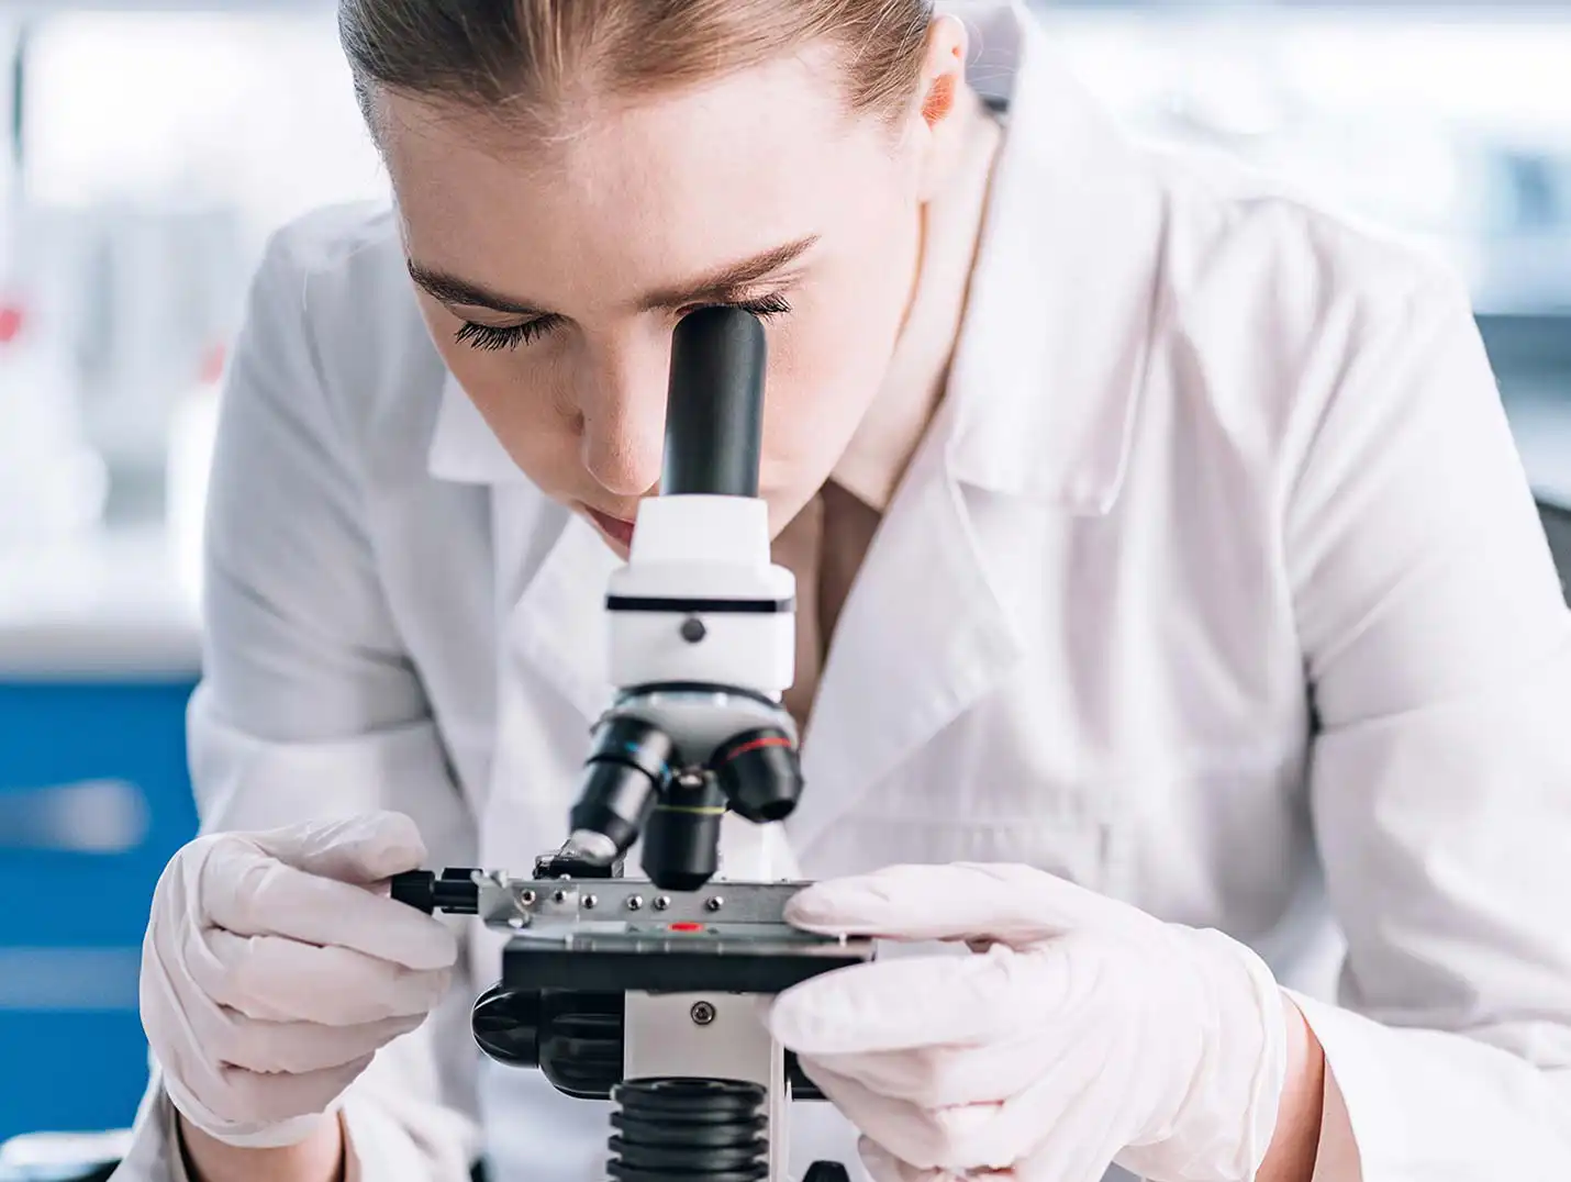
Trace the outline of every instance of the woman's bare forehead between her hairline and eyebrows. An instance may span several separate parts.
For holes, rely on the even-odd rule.
[[[382,141],[423,266],[589,307],[828,236],[891,168],[888,132],[790,58],[676,94],[581,102],[551,137],[383,99]],[[520,284],[523,284],[520,288]]]

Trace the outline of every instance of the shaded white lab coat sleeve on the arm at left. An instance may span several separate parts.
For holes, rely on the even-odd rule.
[[[284,231],[253,286],[220,412],[204,671],[189,714],[201,825],[253,830],[390,808],[415,819],[432,864],[470,864],[473,824],[380,591],[353,448],[314,360],[309,292]],[[454,976],[441,1008],[346,1094],[350,1177],[468,1179],[471,992]],[[154,1064],[124,1179],[182,1177],[171,1127]]]

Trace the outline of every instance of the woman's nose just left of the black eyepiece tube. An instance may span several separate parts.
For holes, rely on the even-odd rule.
[[[660,484],[668,357],[624,351],[594,368],[580,446],[584,468],[614,497],[641,497]]]

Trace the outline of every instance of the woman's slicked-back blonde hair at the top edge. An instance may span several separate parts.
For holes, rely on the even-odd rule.
[[[368,118],[372,91],[501,119],[550,119],[577,96],[639,96],[825,44],[855,112],[913,97],[932,0],[339,0]]]

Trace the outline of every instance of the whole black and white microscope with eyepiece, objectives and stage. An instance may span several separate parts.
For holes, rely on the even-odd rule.
[[[786,1182],[792,1099],[822,1100],[759,1000],[862,964],[870,940],[793,929],[803,883],[721,882],[727,811],[767,825],[803,789],[795,578],[770,561],[759,498],[765,340],[737,308],[682,319],[660,495],[611,577],[611,679],[569,836],[528,879],[412,871],[393,898],[509,932],[476,1003],[490,1058],[613,1102],[616,1182]],[[646,879],[622,874],[639,842]],[[817,1162],[803,1182],[847,1179]]]

